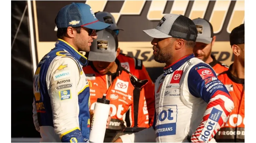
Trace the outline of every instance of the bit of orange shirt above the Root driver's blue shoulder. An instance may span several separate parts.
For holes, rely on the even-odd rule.
[[[209,63],[209,65],[213,68],[216,75],[218,75],[218,74],[220,74],[220,73],[229,69],[228,65],[217,61],[216,58],[213,55],[211,55],[211,57],[212,57],[213,61],[211,63]]]

